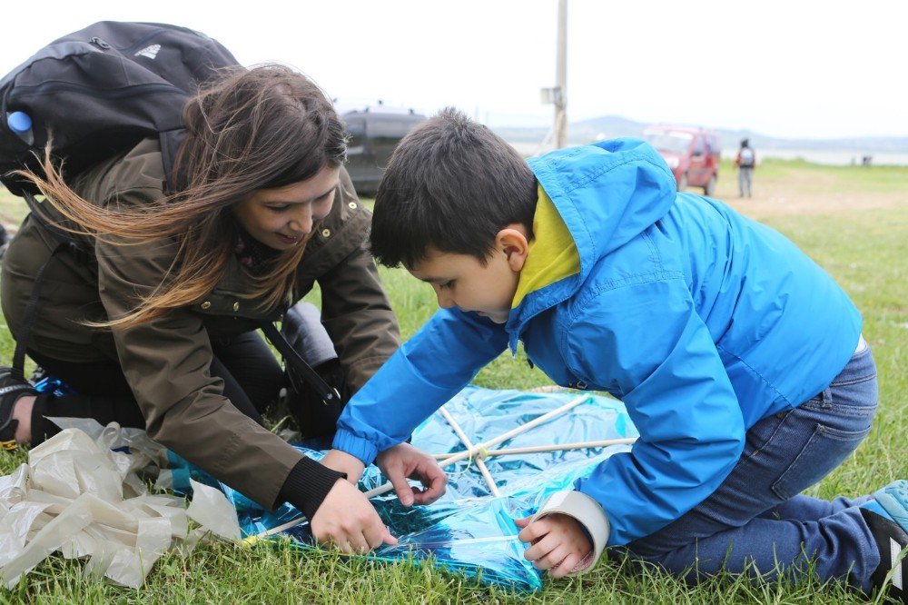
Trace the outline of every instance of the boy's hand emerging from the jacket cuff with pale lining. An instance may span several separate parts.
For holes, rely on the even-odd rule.
[[[555,579],[583,567],[593,545],[577,520],[557,512],[532,523],[530,519],[514,521],[523,528],[518,539],[531,544],[523,554],[524,559],[533,561],[533,567],[538,570],[549,570],[548,575]]]

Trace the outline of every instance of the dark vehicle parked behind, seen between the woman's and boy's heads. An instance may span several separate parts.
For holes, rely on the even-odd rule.
[[[378,106],[341,115],[350,133],[347,170],[357,193],[374,195],[400,139],[426,119],[412,109]]]

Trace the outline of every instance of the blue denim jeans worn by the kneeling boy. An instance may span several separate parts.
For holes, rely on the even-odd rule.
[[[880,563],[854,500],[799,495],[841,464],[870,431],[876,365],[856,352],[824,392],[747,431],[741,460],[716,491],[662,530],[627,545],[632,555],[696,581],[720,570],[803,574],[869,590]]]

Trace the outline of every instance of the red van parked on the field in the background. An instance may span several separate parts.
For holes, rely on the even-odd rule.
[[[646,143],[656,147],[675,174],[678,191],[703,187],[705,195],[716,191],[719,179],[719,136],[713,131],[688,126],[658,124],[643,131]]]

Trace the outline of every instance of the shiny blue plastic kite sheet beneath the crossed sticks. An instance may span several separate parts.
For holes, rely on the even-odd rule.
[[[577,393],[535,393],[490,391],[468,387],[445,405],[470,441],[478,444],[551,412],[577,398]],[[638,433],[621,402],[589,396],[548,422],[520,433],[491,449],[601,441],[637,437]],[[466,450],[448,422],[436,412],[413,432],[413,445],[430,453]],[[323,451],[300,447],[303,453],[321,459]],[[393,491],[372,499],[380,517],[398,537],[397,546],[383,546],[370,559],[416,560],[448,570],[462,571],[480,581],[517,590],[539,590],[542,577],[523,558],[526,545],[518,540],[514,520],[526,517],[555,491],[568,490],[574,481],[587,476],[609,456],[629,451],[629,445],[612,445],[587,450],[552,451],[485,459],[495,480],[499,497],[476,467],[465,460],[446,469],[448,490],[429,506],[404,508]],[[385,482],[380,471],[370,466],[363,473],[360,489],[369,491]],[[256,535],[300,517],[290,505],[271,513],[226,488],[246,535]],[[309,523],[283,532],[303,548],[313,543]]]

